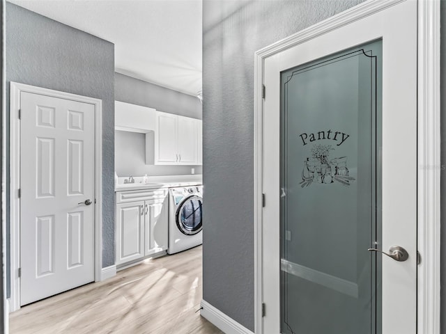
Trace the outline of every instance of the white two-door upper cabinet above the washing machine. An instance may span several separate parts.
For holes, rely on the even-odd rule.
[[[198,130],[194,118],[156,112],[155,164],[198,165]]]

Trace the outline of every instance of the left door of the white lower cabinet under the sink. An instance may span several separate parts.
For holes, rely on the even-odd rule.
[[[116,205],[116,264],[144,256],[144,201]]]

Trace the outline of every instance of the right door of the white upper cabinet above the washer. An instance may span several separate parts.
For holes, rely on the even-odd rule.
[[[178,116],[178,154],[181,165],[197,164],[197,127],[194,118]]]

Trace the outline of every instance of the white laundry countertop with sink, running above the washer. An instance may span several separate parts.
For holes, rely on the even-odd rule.
[[[143,177],[134,177],[134,183],[124,183],[127,177],[118,177],[114,191],[173,188],[175,186],[197,186],[203,184],[203,175],[165,175],[148,176],[147,183]]]

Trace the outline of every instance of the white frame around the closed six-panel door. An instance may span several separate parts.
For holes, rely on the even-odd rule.
[[[20,95],[33,93],[93,104],[95,107],[95,282],[102,270],[102,100],[47,88],[10,83],[10,300],[9,310],[20,309]]]

